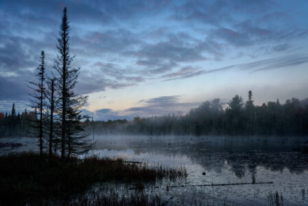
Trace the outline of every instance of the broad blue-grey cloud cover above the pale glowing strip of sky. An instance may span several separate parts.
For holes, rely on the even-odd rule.
[[[1,1],[0,100],[25,100],[41,50],[48,70],[56,57],[62,9],[71,22],[78,93],[123,89],[147,80],[191,78],[228,69],[266,71],[304,64],[288,56],[307,42],[307,12],[276,1]],[[202,69],[234,56],[273,58]],[[284,58],[284,57],[285,58]],[[198,66],[196,66],[198,65]],[[251,68],[251,69],[249,69]],[[10,91],[3,89],[10,87]]]

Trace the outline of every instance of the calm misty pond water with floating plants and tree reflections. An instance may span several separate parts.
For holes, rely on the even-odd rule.
[[[270,205],[269,196],[283,196],[283,205],[308,205],[308,138],[293,137],[155,137],[103,135],[95,154],[124,157],[166,166],[185,165],[186,180],[156,183],[147,192],[160,194],[167,205]],[[23,139],[25,141],[25,139]],[[27,148],[35,148],[27,141]],[[21,150],[24,148],[16,148]],[[202,175],[206,172],[206,175]],[[258,183],[191,187],[217,183]],[[167,185],[187,185],[166,190]],[[167,203],[167,202],[166,202]]]

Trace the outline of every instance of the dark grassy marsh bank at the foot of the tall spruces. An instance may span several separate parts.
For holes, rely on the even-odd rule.
[[[49,158],[33,152],[1,156],[0,168],[0,205],[83,205],[91,201],[96,201],[97,205],[159,203],[157,196],[122,196],[108,187],[105,191],[86,192],[95,183],[143,185],[164,177],[176,179],[187,176],[185,168],[166,169],[144,163],[126,163],[123,159],[97,157]]]

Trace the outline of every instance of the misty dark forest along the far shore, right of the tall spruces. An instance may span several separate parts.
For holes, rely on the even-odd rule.
[[[308,99],[292,98],[253,104],[252,92],[244,102],[239,95],[224,104],[220,99],[206,101],[187,115],[134,117],[132,121],[115,120],[86,124],[95,133],[141,135],[308,135]]]

